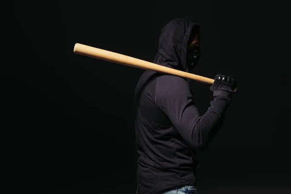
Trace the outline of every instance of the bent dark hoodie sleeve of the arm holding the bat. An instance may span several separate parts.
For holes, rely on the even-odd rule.
[[[155,101],[182,138],[193,148],[207,146],[222,126],[230,103],[228,97],[214,97],[201,115],[195,106],[190,85],[182,78],[163,75],[157,79]]]

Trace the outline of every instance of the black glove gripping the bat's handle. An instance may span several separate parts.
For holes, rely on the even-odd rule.
[[[219,74],[214,77],[214,82],[210,86],[210,90],[213,92],[213,97],[231,97],[235,88],[237,88],[237,83],[234,79]]]

